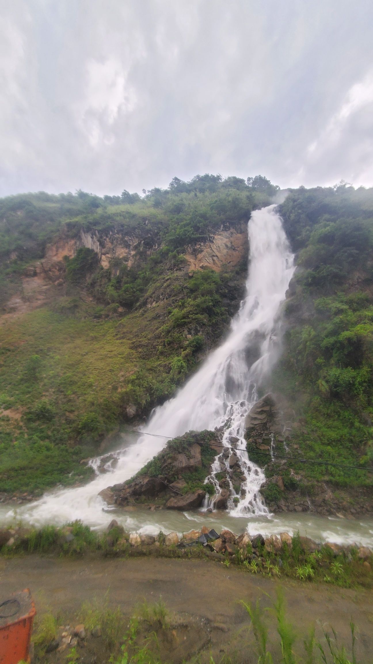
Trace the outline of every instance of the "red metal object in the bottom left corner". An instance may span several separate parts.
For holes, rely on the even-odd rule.
[[[0,598],[0,664],[29,660],[35,604],[29,588]]]

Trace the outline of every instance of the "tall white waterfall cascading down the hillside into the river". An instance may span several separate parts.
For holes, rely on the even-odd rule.
[[[188,430],[222,428],[223,446],[231,446],[234,437],[245,481],[237,506],[231,487],[232,515],[267,513],[259,493],[263,471],[248,459],[246,452],[245,419],[257,399],[257,387],[277,358],[279,309],[294,272],[293,255],[274,205],[252,213],[248,236],[250,269],[246,297],[232,320],[230,334],[175,398],[155,410],[143,429],[144,434],[173,438]],[[104,523],[105,515],[100,517],[103,501],[98,493],[131,477],[166,441],[167,438],[140,436],[134,445],[117,453],[117,465],[110,474],[98,475],[84,487],[44,495],[23,511],[23,518],[32,523],[66,523],[73,519],[91,525]],[[217,491],[214,474],[218,469],[220,460],[216,459],[211,480]]]

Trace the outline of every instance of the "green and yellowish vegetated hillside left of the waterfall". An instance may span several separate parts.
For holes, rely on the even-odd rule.
[[[277,188],[248,181],[175,178],[143,197],[23,194],[0,201],[0,491],[42,491],[82,481],[80,460],[127,416],[144,416],[175,391],[238,309],[246,260],[190,274],[185,252],[216,231],[244,230]],[[9,315],[48,243],[131,238],[131,266],[80,247],[65,258],[64,286],[43,306]],[[27,303],[28,295],[23,293]],[[32,307],[31,307],[32,308]]]

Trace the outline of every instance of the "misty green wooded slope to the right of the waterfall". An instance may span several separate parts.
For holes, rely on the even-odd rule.
[[[315,479],[372,485],[373,190],[291,191],[281,205],[297,272],[275,385],[299,418],[305,457],[367,471],[298,465]]]

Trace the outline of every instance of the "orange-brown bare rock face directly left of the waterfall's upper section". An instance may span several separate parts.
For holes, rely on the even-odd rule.
[[[248,254],[248,234],[236,230],[221,230],[205,245],[196,248],[194,254],[187,253],[190,270],[211,268],[220,272],[222,266],[234,267]]]

